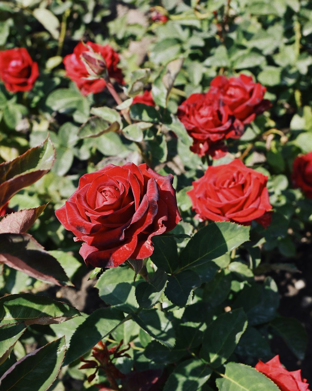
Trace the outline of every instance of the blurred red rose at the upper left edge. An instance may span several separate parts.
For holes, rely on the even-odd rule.
[[[8,91],[29,91],[39,76],[38,64],[25,48],[0,52],[0,79]]]

